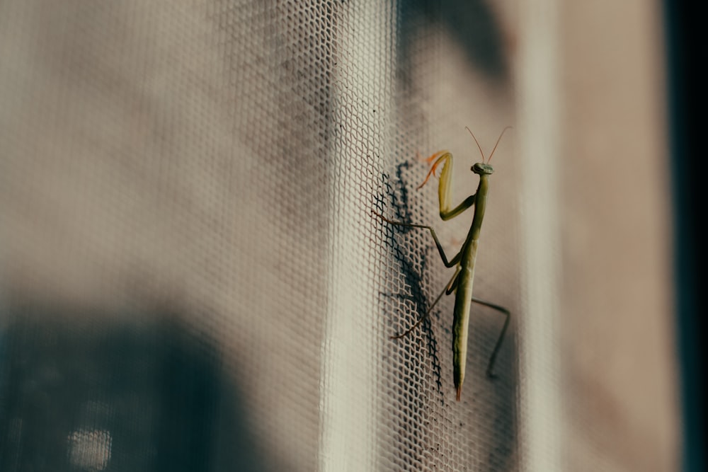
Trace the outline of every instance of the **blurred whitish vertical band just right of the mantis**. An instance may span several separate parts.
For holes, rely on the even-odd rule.
[[[559,4],[520,4],[518,110],[525,313],[520,316],[520,438],[525,471],[562,471],[559,378]]]

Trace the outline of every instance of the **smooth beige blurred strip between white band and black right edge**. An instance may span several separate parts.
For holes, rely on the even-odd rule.
[[[569,461],[678,470],[658,4],[561,9],[561,297]]]

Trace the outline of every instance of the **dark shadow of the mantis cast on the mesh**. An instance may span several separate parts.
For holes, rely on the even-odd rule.
[[[388,214],[393,214],[393,218],[397,221],[402,221],[405,223],[412,223],[411,211],[409,209],[409,185],[406,183],[404,174],[411,167],[411,163],[406,161],[399,163],[396,166],[395,177],[392,179],[387,173],[382,173],[382,185],[384,191],[377,195],[376,209],[377,212],[384,212],[385,210]],[[389,196],[389,201],[387,205],[384,203],[384,195]],[[390,226],[389,226],[390,227]],[[426,296],[426,292],[423,289],[423,274],[426,273],[428,269],[428,263],[430,258],[428,253],[432,246],[426,246],[424,251],[416,251],[416,258],[411,257],[411,249],[408,246],[404,246],[399,243],[399,238],[396,237],[396,233],[407,234],[413,228],[399,226],[397,229],[391,229],[390,232],[387,229],[387,238],[389,239],[389,245],[392,248],[392,253],[394,255],[394,260],[400,266],[400,273],[404,277],[405,286],[408,289],[408,293],[387,293],[379,292],[385,297],[395,297],[400,300],[408,300],[413,304],[414,311],[417,314],[416,319],[421,318],[428,307],[430,306],[430,299]],[[410,241],[410,240],[409,240]],[[431,313],[437,320],[439,317],[438,311]],[[440,403],[445,404],[444,395],[442,393],[442,367],[440,364],[440,358],[438,357],[438,341],[435,338],[435,333],[433,332],[433,321],[431,318],[433,316],[428,316],[421,323],[420,328],[422,328],[423,333],[426,334],[426,347],[428,348],[428,355],[432,359],[433,375],[435,376],[435,385],[437,387],[438,395],[440,396]]]

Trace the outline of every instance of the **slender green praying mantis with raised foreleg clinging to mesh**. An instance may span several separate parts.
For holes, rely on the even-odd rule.
[[[392,221],[384,217],[382,214],[378,214],[377,212],[372,210],[373,214],[375,214],[382,220],[387,221],[387,223],[389,224],[394,224],[396,226],[408,226],[411,228],[428,229],[430,231],[430,234],[433,236],[435,246],[438,247],[438,253],[440,253],[442,263],[445,264],[445,267],[448,268],[455,267],[455,274],[452,275],[450,282],[447,282],[447,284],[445,284],[445,288],[442,290],[442,292],[440,292],[435,301],[433,301],[433,304],[430,305],[428,311],[426,311],[426,313],[421,316],[421,318],[418,319],[418,321],[416,321],[416,323],[409,330],[406,330],[400,335],[392,336],[391,338],[400,339],[404,338],[406,335],[409,335],[414,329],[418,328],[418,326],[423,323],[423,320],[428,317],[430,311],[433,311],[435,304],[438,303],[438,301],[442,298],[443,294],[450,295],[455,292],[455,309],[453,311],[454,317],[452,321],[452,373],[453,380],[455,382],[455,399],[457,401],[459,401],[460,394],[462,393],[462,382],[464,381],[464,371],[465,366],[467,364],[467,335],[469,333],[469,309],[472,306],[472,302],[474,301],[474,303],[476,304],[488,306],[489,308],[495,309],[496,311],[503,313],[504,316],[506,316],[504,326],[503,328],[501,328],[499,338],[496,341],[496,345],[494,346],[494,350],[491,353],[491,357],[489,357],[489,364],[487,364],[486,374],[489,377],[493,377],[492,369],[494,367],[494,362],[496,361],[496,355],[499,352],[501,343],[504,339],[504,335],[506,334],[506,330],[509,326],[510,321],[511,313],[510,311],[508,311],[508,309],[504,308],[503,306],[493,304],[489,301],[478,299],[472,295],[472,284],[474,282],[474,263],[476,261],[477,256],[477,246],[479,243],[479,234],[481,231],[482,220],[484,219],[484,210],[486,209],[487,193],[489,192],[489,175],[494,173],[494,168],[489,164],[489,161],[491,161],[491,157],[493,156],[494,151],[496,151],[496,147],[501,141],[501,137],[504,135],[504,132],[506,132],[506,130],[509,128],[510,127],[504,128],[501,134],[499,134],[499,137],[496,140],[496,144],[494,144],[494,148],[492,149],[491,154],[489,154],[489,159],[486,159],[485,163],[484,151],[482,151],[482,148],[479,145],[479,142],[477,141],[476,137],[474,137],[472,131],[470,131],[469,127],[466,127],[469,134],[472,134],[472,138],[474,139],[474,142],[479,148],[479,153],[482,156],[482,161],[481,163],[475,163],[474,166],[472,166],[471,168],[472,172],[479,175],[479,184],[477,185],[477,191],[474,193],[474,195],[470,195],[469,197],[464,199],[462,203],[457,205],[457,207],[451,208],[452,205],[450,198],[450,190],[452,188],[452,154],[449,151],[440,151],[436,152],[428,159],[426,159],[426,162],[433,164],[430,167],[430,171],[428,171],[428,175],[426,175],[426,179],[423,180],[423,183],[418,186],[418,189],[422,188],[423,185],[426,185],[428,179],[430,179],[430,175],[435,175],[435,169],[437,169],[438,166],[442,164],[442,171],[440,172],[440,183],[438,184],[438,201],[440,204],[440,218],[442,219],[442,221],[447,221],[448,219],[457,217],[457,215],[464,212],[464,210],[474,205],[474,217],[472,217],[472,226],[469,227],[469,231],[467,232],[467,238],[465,238],[464,243],[462,243],[462,248],[459,250],[459,253],[457,253],[457,255],[455,255],[455,257],[453,257],[452,259],[448,259],[447,255],[445,255],[445,251],[442,248],[442,244],[440,244],[440,240],[435,234],[435,229],[433,229],[432,226],[426,226],[423,224],[410,224],[404,223],[402,221]]]

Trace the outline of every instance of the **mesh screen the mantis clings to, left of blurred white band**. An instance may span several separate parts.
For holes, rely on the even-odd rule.
[[[512,321],[473,306],[455,203],[513,122],[506,4],[0,6],[0,468],[518,468]],[[520,312],[520,171],[496,151],[475,294]]]

